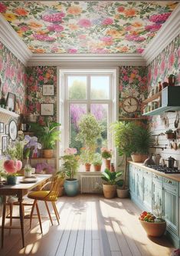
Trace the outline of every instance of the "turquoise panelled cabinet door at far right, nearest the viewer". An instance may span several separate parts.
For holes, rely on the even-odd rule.
[[[178,188],[164,184],[163,202],[163,215],[167,221],[167,228],[178,234]]]

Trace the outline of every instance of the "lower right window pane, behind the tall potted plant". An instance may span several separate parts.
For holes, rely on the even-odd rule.
[[[102,132],[102,139],[97,141],[99,146],[98,151],[100,151],[100,147],[106,144],[107,140],[107,116],[108,116],[108,105],[107,104],[91,104],[90,105],[91,113],[100,121],[100,124],[103,125],[104,130]]]

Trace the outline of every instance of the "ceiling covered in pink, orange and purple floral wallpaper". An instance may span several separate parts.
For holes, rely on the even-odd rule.
[[[0,2],[34,53],[139,53],[178,2]]]

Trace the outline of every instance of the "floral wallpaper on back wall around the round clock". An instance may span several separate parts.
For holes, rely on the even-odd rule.
[[[147,97],[147,91],[146,67],[119,67],[119,118],[142,115],[142,101]],[[132,115],[122,108],[123,99],[129,95],[139,101],[139,108]]]

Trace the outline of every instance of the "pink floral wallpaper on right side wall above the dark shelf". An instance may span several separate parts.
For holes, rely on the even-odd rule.
[[[175,75],[175,84],[180,84],[180,35],[176,37],[148,66],[149,89],[159,81],[167,81]]]

